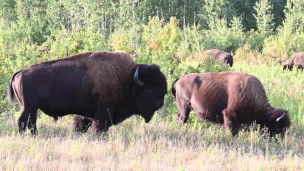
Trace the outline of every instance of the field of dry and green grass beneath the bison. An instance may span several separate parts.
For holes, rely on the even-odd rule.
[[[193,114],[180,127],[158,113],[150,123],[132,116],[103,135],[72,132],[71,116],[54,123],[40,114],[38,135],[20,137],[12,109],[0,116],[0,170],[303,170],[304,73],[242,63],[233,69],[258,77],[270,103],[289,111],[284,140],[270,142],[258,132],[232,138]]]

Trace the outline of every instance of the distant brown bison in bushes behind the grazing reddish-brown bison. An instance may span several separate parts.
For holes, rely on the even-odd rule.
[[[230,53],[225,52],[225,51],[218,50],[218,49],[209,49],[209,50],[205,50],[203,52],[204,57],[206,57],[207,55],[213,56],[216,60],[223,61],[224,64],[229,64],[230,67],[233,64],[232,55]]]

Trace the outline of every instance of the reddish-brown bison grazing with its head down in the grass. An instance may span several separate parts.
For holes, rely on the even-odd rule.
[[[241,124],[255,122],[267,127],[270,135],[283,135],[290,125],[288,112],[270,106],[263,85],[253,75],[236,71],[192,73],[175,82],[171,91],[182,124],[193,109],[201,120],[230,128],[232,135]]]

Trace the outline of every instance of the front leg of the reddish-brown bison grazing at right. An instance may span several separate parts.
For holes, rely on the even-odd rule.
[[[230,128],[232,136],[236,135],[240,126],[239,121],[236,119],[235,112],[222,111],[224,118],[224,128]]]

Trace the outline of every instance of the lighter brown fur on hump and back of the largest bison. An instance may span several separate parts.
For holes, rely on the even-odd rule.
[[[60,61],[60,62],[56,62]],[[109,98],[100,98],[101,103],[117,102],[125,96],[125,88],[130,87],[133,77],[132,68],[135,61],[127,52],[116,51],[89,51],[57,59],[52,62],[52,67],[85,67],[89,80],[91,80],[92,94],[98,93]],[[43,62],[47,63],[47,62]],[[106,70],[107,72],[100,72]],[[106,81],[104,81],[106,79]],[[105,88],[106,87],[106,88]]]

